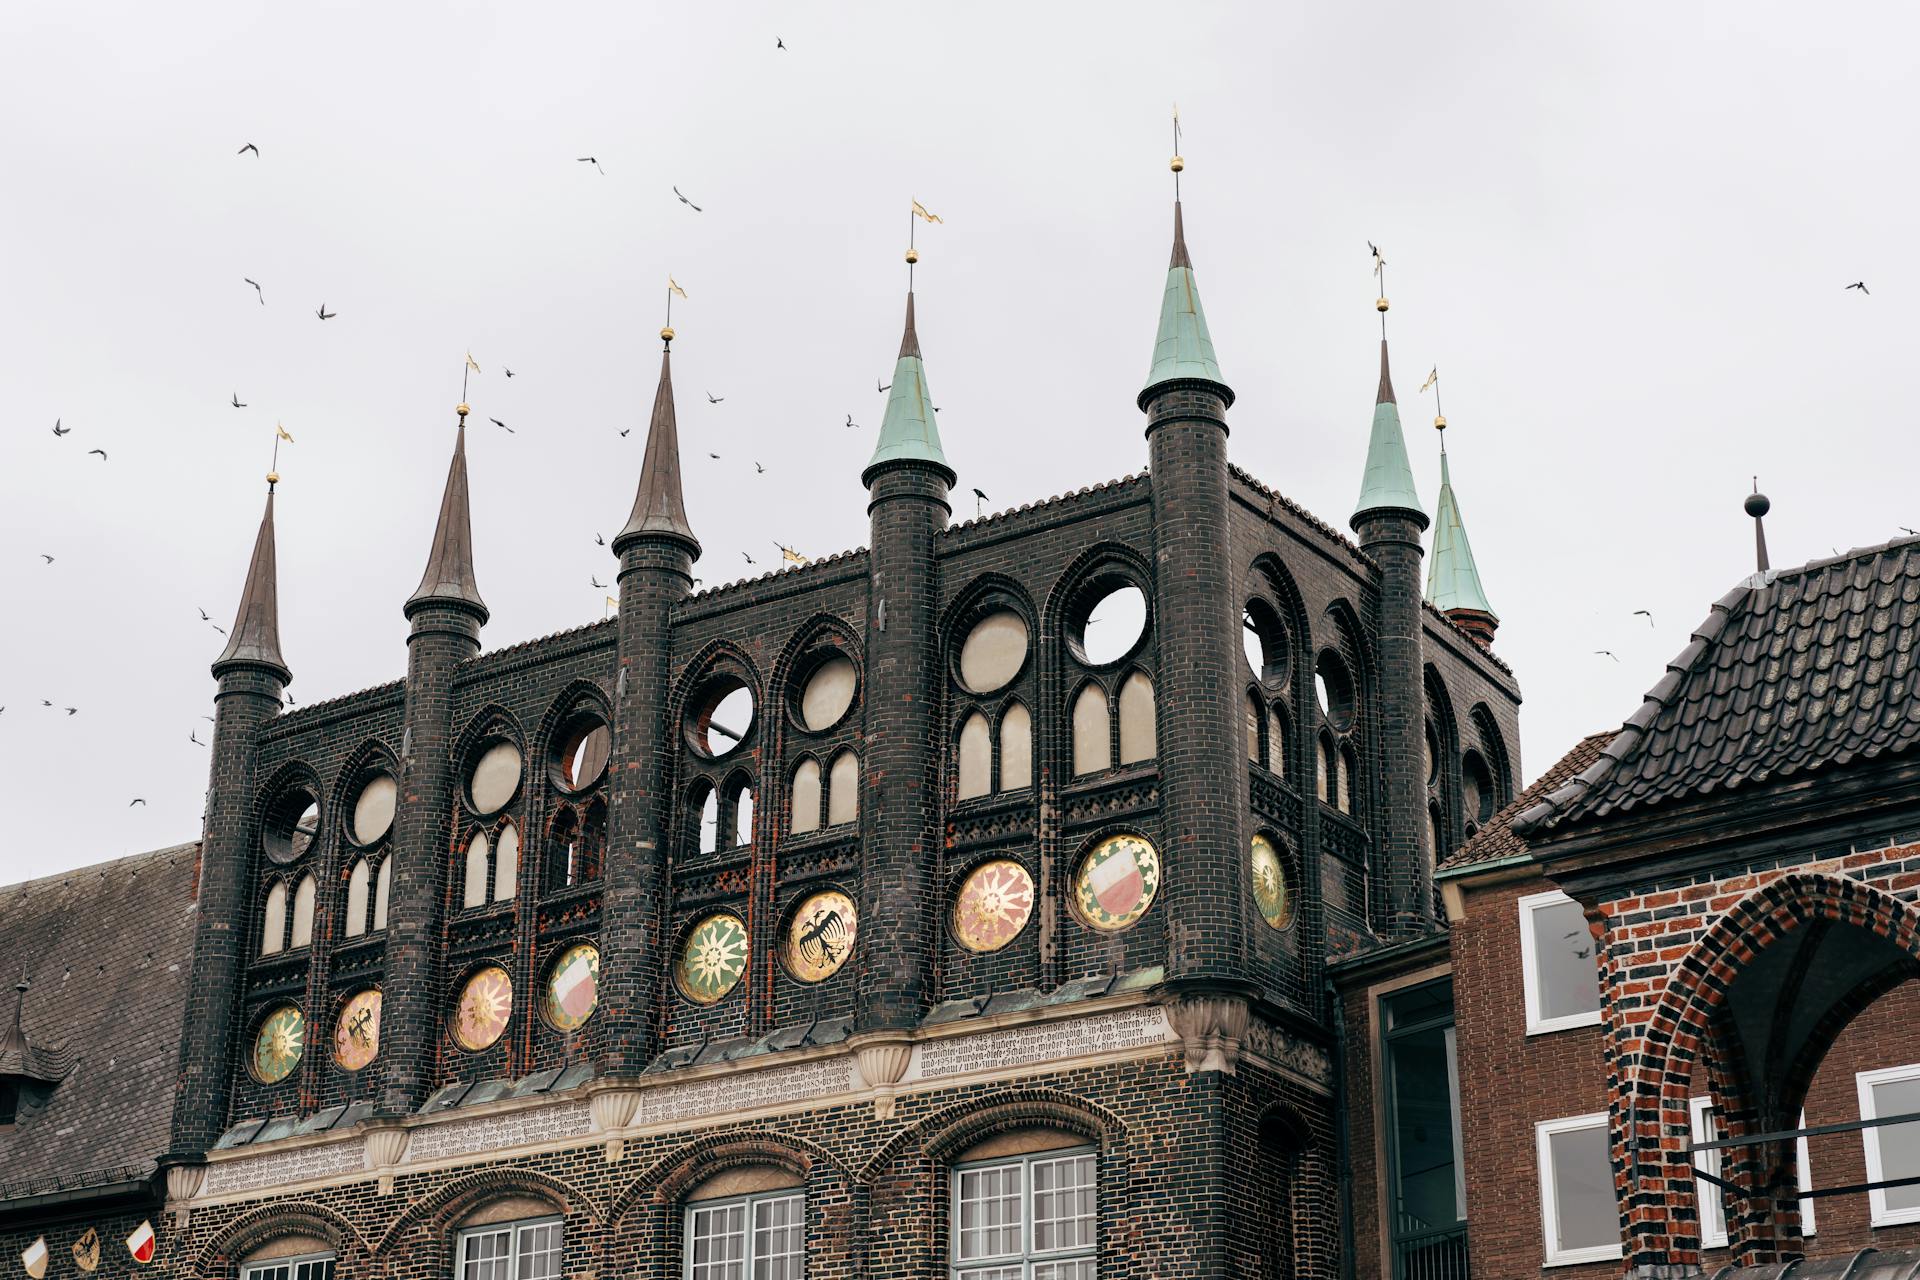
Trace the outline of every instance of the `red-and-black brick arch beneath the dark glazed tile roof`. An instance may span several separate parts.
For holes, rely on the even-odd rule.
[[[1724,1034],[1732,984],[1745,965],[1786,935],[1809,925],[1864,929],[1920,965],[1920,912],[1851,877],[1789,871],[1755,889],[1713,921],[1667,975],[1659,1002],[1634,1032],[1638,1046],[1628,1044],[1611,1054],[1615,1063],[1632,1063],[1638,1048],[1638,1065],[1609,1073],[1619,1080],[1611,1146],[1620,1203],[1628,1205],[1624,1226],[1630,1267],[1699,1263],[1693,1169],[1686,1153],[1692,1067],[1720,1057],[1709,1050]],[[1613,956],[1607,965],[1611,988]],[[1899,977],[1910,977],[1910,971]],[[1793,1092],[1782,1094],[1784,1102],[1797,1103],[1832,1036],[1872,998],[1885,994],[1887,986],[1880,986],[1878,979],[1864,983],[1830,1009],[1789,1067],[1786,1084]],[[1724,1109],[1736,1123],[1755,1111],[1757,1100],[1745,1096],[1745,1088],[1734,1084],[1730,1075],[1716,1073],[1713,1088],[1732,1094]],[[1730,1180],[1738,1178],[1736,1171]],[[1728,1219],[1730,1232],[1740,1226],[1743,1234],[1732,1242],[1736,1263],[1757,1265],[1776,1257],[1782,1244],[1778,1222],[1761,1222],[1751,1207],[1730,1211]]]

